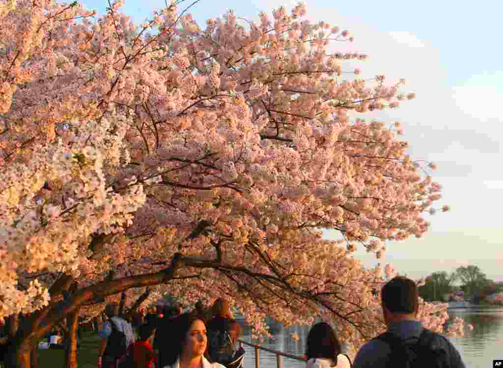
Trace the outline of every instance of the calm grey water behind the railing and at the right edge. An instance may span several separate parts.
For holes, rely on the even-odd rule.
[[[461,317],[474,326],[474,330],[464,337],[450,338],[461,353],[467,368],[488,368],[492,367],[493,359],[503,359],[503,308],[451,309],[449,315]],[[307,326],[277,327],[272,331],[273,338],[264,341],[263,346],[303,355],[308,331]],[[298,341],[290,337],[293,332],[299,336]],[[249,335],[245,335],[243,340],[251,341]],[[244,348],[246,350],[244,368],[255,368],[253,347],[245,345]],[[305,368],[305,363],[284,358],[283,366],[284,368]],[[276,368],[276,356],[262,350],[260,367]]]

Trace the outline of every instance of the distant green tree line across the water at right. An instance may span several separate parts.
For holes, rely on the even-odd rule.
[[[460,282],[461,286],[455,286],[456,282]],[[427,301],[444,301],[445,295],[463,291],[465,300],[480,303],[491,294],[503,292],[503,282],[487,279],[478,266],[468,265],[458,267],[451,273],[433,272],[418,290],[420,296]]]

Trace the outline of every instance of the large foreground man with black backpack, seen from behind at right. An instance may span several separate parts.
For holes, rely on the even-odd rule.
[[[388,329],[361,347],[354,368],[465,368],[446,337],[416,320],[419,302],[412,280],[397,276],[386,283],[381,304]]]

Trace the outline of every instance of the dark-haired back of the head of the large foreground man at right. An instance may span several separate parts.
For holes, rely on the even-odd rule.
[[[402,276],[391,279],[381,290],[381,305],[388,325],[390,322],[415,319],[419,307],[417,286]]]

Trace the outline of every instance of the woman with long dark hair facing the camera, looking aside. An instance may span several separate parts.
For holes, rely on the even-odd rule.
[[[163,368],[225,368],[206,357],[206,324],[199,316],[183,314],[173,321],[173,344],[166,350]]]

